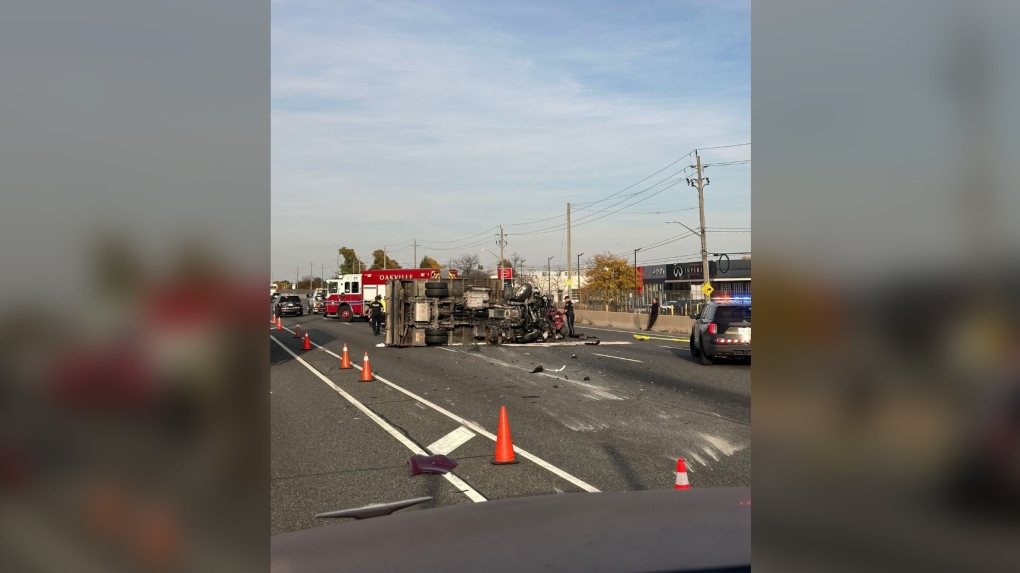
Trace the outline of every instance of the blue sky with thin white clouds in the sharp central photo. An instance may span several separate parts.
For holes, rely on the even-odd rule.
[[[686,173],[644,190],[693,157],[579,209],[751,141],[750,16],[749,1],[273,1],[274,277],[329,272],[340,247],[413,266],[412,240],[418,259],[490,265],[498,225],[507,254],[565,266],[566,204],[579,223],[631,195],[574,225],[574,261],[692,260],[694,237],[651,247],[685,232],[667,219],[698,225],[693,189],[661,191]],[[727,230],[709,250],[750,251],[729,230],[751,227],[751,165],[706,174],[706,224]]]

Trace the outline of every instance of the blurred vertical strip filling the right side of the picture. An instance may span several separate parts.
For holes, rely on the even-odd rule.
[[[1020,7],[754,3],[755,565],[1020,570]]]

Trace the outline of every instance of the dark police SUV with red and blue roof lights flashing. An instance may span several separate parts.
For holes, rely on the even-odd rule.
[[[716,358],[751,358],[751,303],[710,302],[691,328],[691,354],[709,366]]]

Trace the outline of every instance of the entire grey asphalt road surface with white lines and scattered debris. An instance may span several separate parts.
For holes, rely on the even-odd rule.
[[[332,523],[319,512],[421,496],[435,500],[402,511],[670,488],[681,457],[693,487],[751,484],[748,362],[701,366],[685,341],[620,329],[578,328],[598,346],[397,349],[377,348],[384,336],[363,321],[283,322],[269,341],[273,534]],[[339,368],[345,344],[351,370]],[[375,381],[360,381],[365,352]],[[518,464],[491,463],[501,406]],[[444,437],[453,475],[409,476],[408,458]]]

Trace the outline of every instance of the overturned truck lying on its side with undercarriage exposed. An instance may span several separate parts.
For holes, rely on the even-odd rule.
[[[386,344],[423,347],[561,340],[566,318],[531,284],[490,278],[395,279],[387,285]]]

